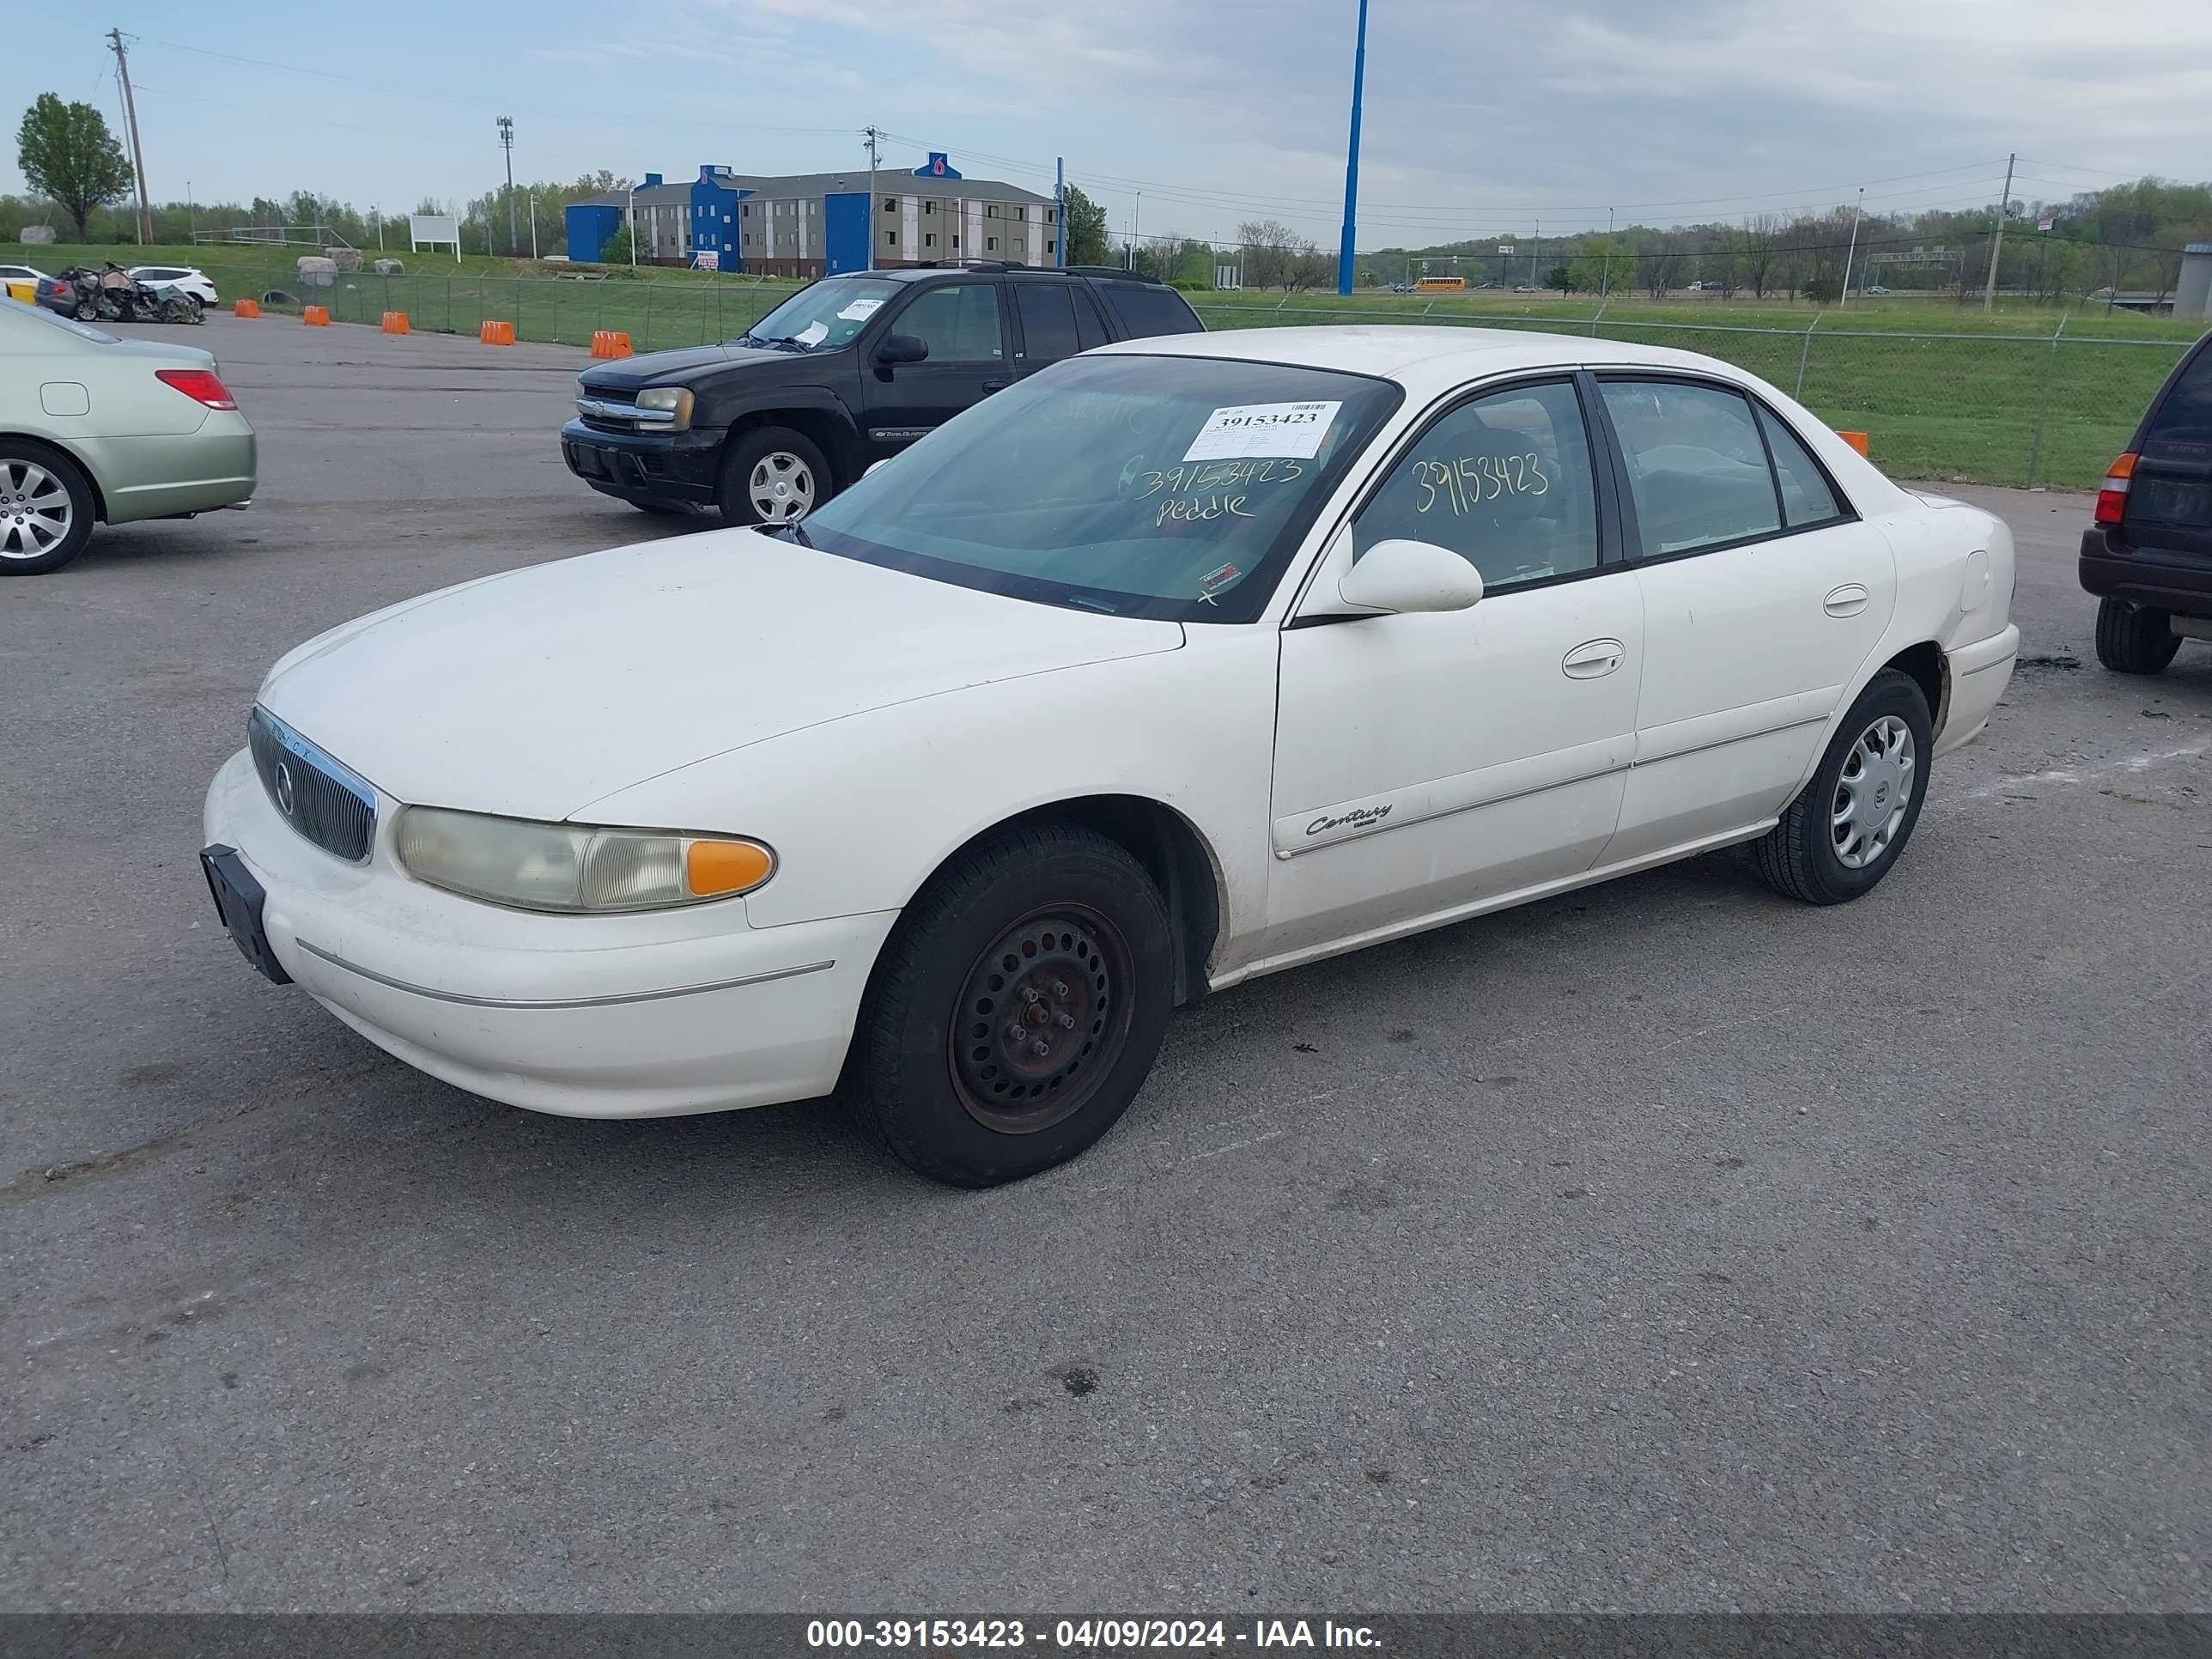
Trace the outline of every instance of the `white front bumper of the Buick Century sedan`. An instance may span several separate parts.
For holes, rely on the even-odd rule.
[[[750,927],[743,900],[639,916],[533,916],[405,876],[398,803],[347,865],[299,836],[239,750],[206,838],[265,889],[263,927],[316,1002],[378,1048],[476,1095],[562,1117],[670,1117],[836,1086],[894,911]]]

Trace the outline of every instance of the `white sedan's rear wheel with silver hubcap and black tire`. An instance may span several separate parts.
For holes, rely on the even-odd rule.
[[[1876,807],[1889,810],[1889,816],[1882,821],[1887,830],[1880,832],[1887,834],[1887,841],[1874,849],[1869,845],[1871,832],[1858,825],[1838,825],[1836,812],[1845,803],[1845,772],[1854,765],[1854,757],[1858,757],[1863,770],[1867,765],[1867,759],[1858,754],[1860,739],[1885,721],[1902,721],[1911,739],[1911,770],[1900,785],[1893,779],[1893,765],[1878,763],[1880,776],[1871,790],[1854,790],[1849,794],[1851,807],[1865,801],[1867,812]],[[1911,675],[1900,675],[1896,668],[1878,672],[1867,684],[1867,690],[1858,695],[1858,701],[1851,703],[1851,712],[1843,717],[1834,741],[1827,745],[1827,754],[1820,757],[1820,768],[1812,774],[1812,783],[1790,803],[1781,823],[1752,843],[1759,874],[1765,876],[1774,891],[1807,905],[1840,905],[1847,898],[1869,891],[1898,863],[1905,843],[1913,836],[1913,825],[1920,823],[1933,748],[1936,734],[1929,726],[1929,703],[1918,681]],[[1896,816],[1898,805],[1891,792],[1905,796],[1902,816]],[[1865,863],[1847,863],[1847,852],[1838,847],[1838,830],[1856,834],[1849,856]]]

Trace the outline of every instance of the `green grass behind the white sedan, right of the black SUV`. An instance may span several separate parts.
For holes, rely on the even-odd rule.
[[[1208,327],[1374,323],[1343,305],[1206,305]],[[1409,319],[1411,321],[1411,319]],[[1703,352],[1778,385],[1834,427],[1865,431],[1896,478],[2095,489],[2188,341],[2051,334],[1887,334],[1732,323],[1422,316],[1431,327],[1513,327]]]

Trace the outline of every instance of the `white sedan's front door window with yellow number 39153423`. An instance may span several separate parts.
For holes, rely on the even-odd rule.
[[[1513,588],[1597,568],[1597,484],[1568,380],[1462,403],[1391,467],[1352,520],[1352,557],[1407,538],[1449,546]]]

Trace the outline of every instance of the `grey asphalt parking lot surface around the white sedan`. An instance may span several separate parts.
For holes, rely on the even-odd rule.
[[[0,582],[0,1606],[2212,1601],[2212,648],[2097,666],[2086,500],[1958,489],[2028,655],[1867,900],[1723,854],[1250,984],[956,1194],[248,971],[195,852],[263,668],[668,524],[562,469],[580,352],[190,341],[254,509]]]

